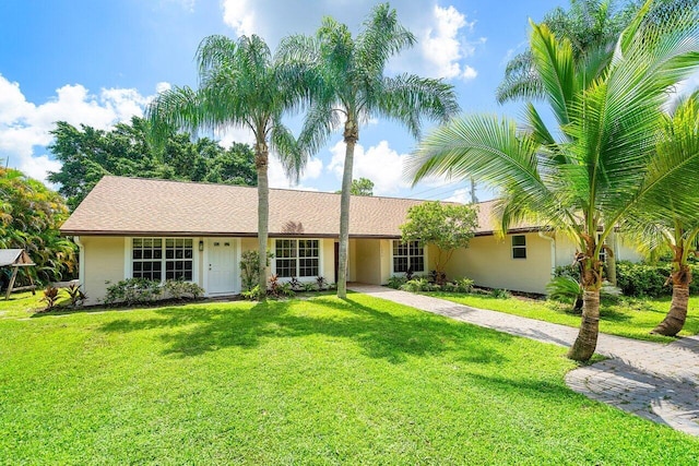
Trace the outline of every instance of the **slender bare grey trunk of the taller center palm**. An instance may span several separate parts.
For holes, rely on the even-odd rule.
[[[347,297],[347,256],[350,250],[350,199],[352,193],[352,170],[354,166],[354,146],[359,139],[359,129],[352,115],[345,121],[344,141],[345,164],[342,172],[342,193],[340,194],[340,251],[337,254],[337,298]]]

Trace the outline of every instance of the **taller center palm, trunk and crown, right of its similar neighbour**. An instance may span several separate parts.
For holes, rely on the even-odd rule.
[[[292,36],[280,49],[287,61],[304,62],[318,80],[309,88],[311,105],[299,143],[315,153],[330,134],[343,129],[346,144],[340,214],[337,296],[346,296],[350,242],[350,193],[359,127],[371,117],[406,126],[419,136],[424,118],[445,121],[459,110],[453,87],[440,80],[402,74],[387,77],[388,60],[415,44],[388,3],[374,8],[363,31],[352,37],[346,25],[323,19],[316,37]]]

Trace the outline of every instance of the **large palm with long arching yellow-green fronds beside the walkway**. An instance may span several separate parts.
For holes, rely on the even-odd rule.
[[[599,56],[578,58],[569,40],[532,23],[533,64],[557,138],[531,104],[526,131],[507,118],[454,119],[419,144],[410,169],[415,182],[475,176],[499,187],[502,231],[529,219],[574,239],[583,287],[580,332],[568,353],[574,360],[590,359],[596,347],[604,240],[635,205],[699,164],[699,154],[677,160],[653,150],[665,93],[699,64],[699,12],[644,21],[650,5],[621,33],[601,76]]]

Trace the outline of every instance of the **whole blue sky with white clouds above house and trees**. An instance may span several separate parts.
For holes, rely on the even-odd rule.
[[[312,34],[323,15],[357,31],[376,2],[363,0],[3,0],[0,2],[0,159],[44,179],[59,165],[46,145],[54,122],[109,128],[141,115],[169,85],[196,86],[193,56],[211,34],[259,34],[272,48],[288,34]],[[391,2],[418,38],[390,63],[389,73],[443,77],[455,86],[465,112],[517,117],[519,105],[499,106],[494,93],[505,63],[521,51],[529,19],[567,1]],[[297,127],[299,118],[291,119]],[[224,143],[249,142],[233,129]],[[360,130],[355,178],[376,183],[375,193],[466,201],[463,182],[436,180],[410,189],[402,164],[416,141],[401,127],[371,121]],[[344,146],[332,138],[308,164],[298,189],[340,188]],[[289,188],[279,164],[271,184]],[[482,191],[487,199],[490,193]]]

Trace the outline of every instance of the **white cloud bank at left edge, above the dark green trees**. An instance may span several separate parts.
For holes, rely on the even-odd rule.
[[[60,168],[59,162],[40,150],[51,142],[49,131],[56,121],[108,129],[142,116],[151,98],[123,88],[103,88],[93,95],[81,84],[67,84],[56,89],[55,97],[37,105],[26,100],[19,83],[0,74],[0,153],[2,158],[9,157],[11,167],[45,181],[48,171]]]

